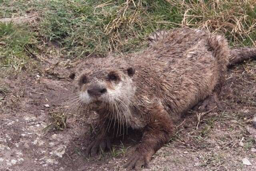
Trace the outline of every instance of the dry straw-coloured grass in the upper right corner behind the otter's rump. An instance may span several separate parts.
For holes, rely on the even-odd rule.
[[[225,34],[234,46],[256,47],[255,0],[168,0],[183,16],[182,25]]]

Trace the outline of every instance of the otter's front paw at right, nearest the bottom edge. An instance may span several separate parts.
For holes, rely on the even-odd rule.
[[[142,170],[143,167],[148,168],[151,158],[151,153],[134,153],[130,159],[125,163],[124,168],[135,169],[136,171]]]

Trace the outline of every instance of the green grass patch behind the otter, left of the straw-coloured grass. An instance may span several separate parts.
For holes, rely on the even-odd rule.
[[[110,50],[125,53],[144,47],[144,38],[156,29],[174,27],[158,22],[182,20],[177,9],[164,0],[136,4],[122,0],[51,1],[39,32],[72,56],[106,54]]]

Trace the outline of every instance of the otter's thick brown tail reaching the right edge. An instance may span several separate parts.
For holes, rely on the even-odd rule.
[[[228,66],[231,67],[250,59],[256,59],[256,48],[231,49]]]

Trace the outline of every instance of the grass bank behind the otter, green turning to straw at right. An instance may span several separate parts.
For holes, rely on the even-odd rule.
[[[225,34],[232,46],[256,46],[255,5],[254,0],[56,1],[42,16],[40,33],[73,56],[140,50],[151,32],[177,27]]]

